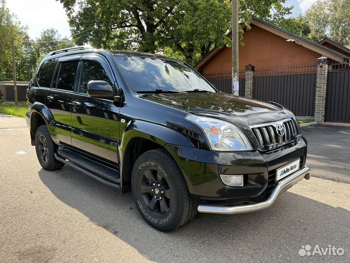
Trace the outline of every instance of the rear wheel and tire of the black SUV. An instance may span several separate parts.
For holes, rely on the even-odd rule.
[[[54,157],[56,145],[46,125],[40,126],[35,132],[35,151],[36,157],[43,169],[52,171],[64,166],[64,163]]]

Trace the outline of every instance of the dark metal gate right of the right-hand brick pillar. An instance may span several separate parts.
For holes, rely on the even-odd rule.
[[[350,122],[349,70],[328,72],[325,121]]]

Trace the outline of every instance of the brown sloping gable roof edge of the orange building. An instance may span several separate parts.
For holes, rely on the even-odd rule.
[[[287,30],[284,30],[276,25],[273,25],[271,23],[268,23],[268,22],[263,21],[261,19],[258,19],[256,17],[253,17],[250,20],[250,24],[258,26],[258,27],[260,27],[268,32],[271,32],[275,35],[280,36],[281,38],[285,38],[286,40],[293,38],[296,40],[295,44],[297,44],[297,45],[301,44],[305,48],[312,50],[318,54],[321,54],[322,56],[327,56],[328,58],[333,59],[337,62],[344,63],[344,62],[350,61],[350,58],[348,56],[340,54],[340,53],[338,53],[330,48],[324,47],[320,44],[317,44],[309,39],[300,37],[296,34],[293,34],[293,33],[290,34]],[[244,27],[245,25],[242,25],[242,26]],[[230,36],[228,36],[228,37],[230,37]],[[214,48],[208,55],[204,56],[202,58],[202,60],[199,61],[199,63],[195,66],[195,69],[198,70],[199,68],[206,65],[208,62],[211,61],[211,59],[213,57],[220,54],[222,52],[222,50],[223,50],[223,48],[220,48],[220,47]]]

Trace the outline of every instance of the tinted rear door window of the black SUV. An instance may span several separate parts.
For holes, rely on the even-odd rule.
[[[56,88],[72,91],[77,68],[78,61],[62,62],[58,73]]]

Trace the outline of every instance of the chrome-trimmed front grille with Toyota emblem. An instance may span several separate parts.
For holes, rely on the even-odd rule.
[[[265,150],[280,147],[300,136],[297,125],[292,119],[254,125],[250,128],[254,132],[260,147]],[[281,132],[281,130],[284,130],[284,132]]]

